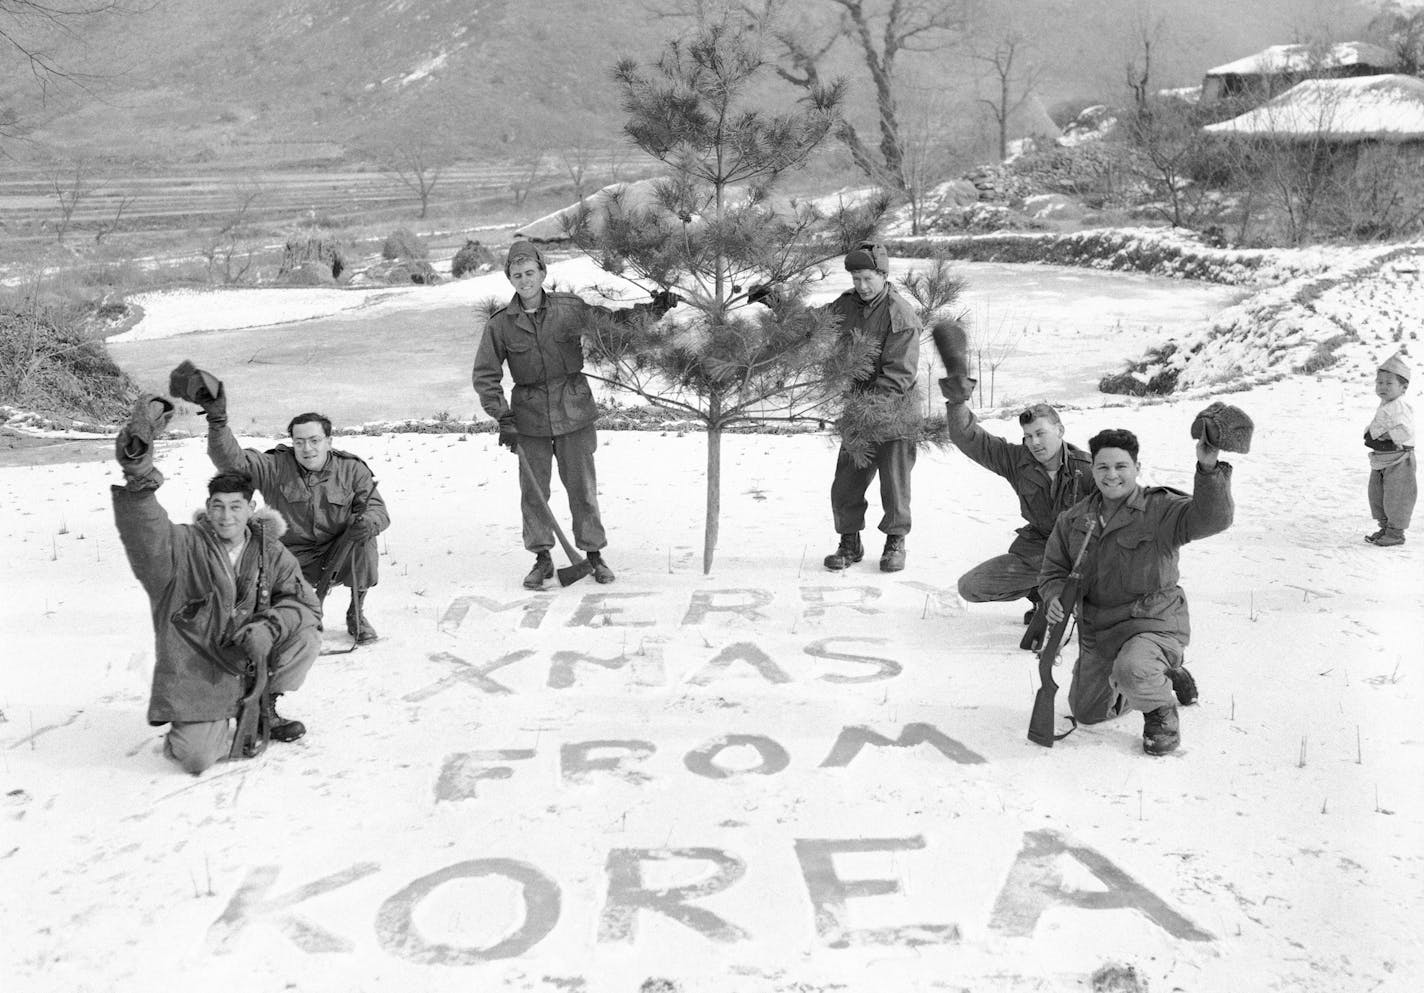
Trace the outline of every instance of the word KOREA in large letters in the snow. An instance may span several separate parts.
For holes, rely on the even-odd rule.
[[[816,943],[829,949],[846,949],[958,942],[960,926],[954,922],[900,923],[880,927],[853,927],[849,923],[847,903],[850,900],[871,899],[903,890],[900,879],[846,879],[836,866],[836,858],[869,852],[918,852],[924,848],[926,842],[920,835],[849,839],[797,838],[793,843],[793,853],[806,886],[812,912],[809,923]],[[967,853],[967,858],[975,856]],[[906,859],[906,862],[909,861]],[[1099,883],[1101,889],[1085,890],[1065,885],[1059,869],[1064,861],[1077,862]],[[666,873],[655,870],[645,875],[645,869],[665,866],[669,862],[705,863],[706,870],[689,883],[651,885],[646,875],[666,879]],[[676,922],[716,945],[753,940],[752,933],[731,916],[698,906],[698,902],[732,889],[748,878],[748,863],[732,852],[706,846],[615,848],[608,852],[604,869],[607,886],[598,912],[595,937],[600,945],[632,945],[639,933],[639,922],[646,916]],[[271,890],[276,883],[278,868],[255,868],[232,896],[222,916],[208,929],[208,947],[215,955],[236,952],[238,937],[249,926],[265,923],[276,927],[306,953],[355,953],[356,946],[350,939],[302,916],[295,908],[379,870],[379,865],[363,862],[299,886],[289,893],[273,896]],[[766,878],[780,879],[779,875]],[[486,879],[503,880],[504,886],[513,883],[517,889],[517,900],[523,913],[518,915],[518,925],[513,932],[504,933],[498,940],[487,945],[436,942],[422,932],[417,923],[422,919],[420,909],[427,902],[431,906],[436,905],[439,898],[436,900],[431,898],[441,888],[451,883],[467,886],[470,880]],[[786,893],[776,886],[768,886],[758,892],[756,899],[760,903],[779,896],[786,896]],[[464,913],[478,915],[486,910],[491,916],[497,916],[493,922],[481,920],[481,923],[496,926],[504,923],[504,915],[490,909],[493,906],[490,902],[463,899],[460,906]],[[420,965],[473,966],[511,959],[531,950],[558,926],[562,906],[562,888],[538,866],[507,858],[470,859],[420,876],[386,898],[376,912],[376,939],[387,953]],[[719,906],[725,906],[725,903],[719,903]],[[805,905],[797,899],[793,900],[792,906],[800,909]],[[1004,885],[994,900],[988,929],[1007,937],[1032,937],[1040,919],[1052,908],[1088,912],[1135,910],[1179,940],[1212,940],[1212,935],[1193,925],[1098,851],[1069,843],[1052,831],[1030,831],[1024,835],[1022,848],[1010,866]]]

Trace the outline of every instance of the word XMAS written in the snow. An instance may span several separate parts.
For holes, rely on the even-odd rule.
[[[886,644],[886,641],[887,638],[836,635],[830,638],[817,638],[816,641],[807,644],[802,651],[812,658],[824,660],[837,665],[840,662],[846,662],[853,667],[849,671],[823,672],[816,677],[817,680],[842,684],[876,682],[879,680],[893,680],[904,671],[904,667],[893,658],[862,655],[859,653],[839,651],[839,648],[854,643],[880,645]],[[568,690],[577,682],[577,671],[581,665],[592,665],[611,671],[625,668],[628,670],[628,678],[634,685],[666,685],[668,675],[664,650],[665,644],[661,638],[644,638],[637,651],[622,651],[611,658],[602,658],[600,655],[591,655],[588,653],[574,650],[554,651],[548,662],[547,685],[554,690]],[[493,658],[483,665],[476,665],[450,651],[431,653],[429,655],[430,661],[451,665],[454,671],[426,687],[422,687],[420,690],[407,692],[403,700],[407,704],[419,704],[434,697],[436,694],[466,682],[476,685],[488,694],[513,694],[514,691],[510,687],[491,678],[493,674],[507,665],[523,662],[533,655],[535,655],[533,648],[518,648],[515,651],[506,653],[498,658]],[[738,641],[716,651],[696,672],[686,678],[686,682],[695,687],[709,685],[719,678],[726,678],[728,671],[738,662],[749,665],[752,671],[760,675],[766,682],[782,684],[792,681],[790,674],[766,651],[758,647],[756,643]]]

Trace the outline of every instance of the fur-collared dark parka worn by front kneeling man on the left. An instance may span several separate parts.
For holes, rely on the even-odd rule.
[[[229,564],[221,539],[199,511],[174,524],[152,489],[111,489],[114,523],[128,564],[148,594],[154,623],[154,685],[148,722],[225,721],[242,695],[242,653],[232,634],[253,618],[258,564],[266,563],[271,605],[263,617],[278,643],[318,627],[316,594],[282,543],[286,524],[272,509],[248,524],[248,544]]]

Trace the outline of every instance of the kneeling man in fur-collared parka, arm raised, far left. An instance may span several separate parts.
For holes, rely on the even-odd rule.
[[[215,476],[192,524],[168,520],[155,496],[164,477],[152,447],[172,410],[159,396],[140,399],[118,435],[124,486],[111,492],[118,536],[152,608],[148,722],[172,725],[164,754],[197,775],[229,752],[248,661],[268,667],[263,700],[273,701],[302,685],[320,634],[316,594],[278,540],[286,524],[275,510],[256,510],[249,477]],[[275,741],[306,734],[275,702],[263,704],[262,721]]]

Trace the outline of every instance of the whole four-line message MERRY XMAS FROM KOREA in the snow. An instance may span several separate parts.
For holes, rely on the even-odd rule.
[[[786,745],[755,727],[699,732],[681,712],[669,715],[666,724],[649,725],[651,712],[644,707],[634,725],[639,732],[627,734],[619,714],[607,709],[617,698],[601,694],[600,728],[594,734],[575,731],[554,745],[541,744],[538,735],[533,742],[487,741],[491,734],[531,729],[518,717],[521,711],[506,704],[541,695],[550,704],[571,697],[578,701],[581,681],[592,682],[595,675],[617,674],[634,700],[645,702],[648,695],[639,691],[668,687],[665,655],[674,650],[679,661],[692,665],[681,680],[688,687],[745,675],[760,685],[795,684],[793,674],[815,681],[807,685],[909,680],[916,670],[906,671],[890,657],[891,638],[819,630],[789,648],[783,623],[795,633],[800,621],[815,628],[846,620],[856,621],[859,631],[863,617],[884,614],[880,627],[886,630],[899,623],[894,613],[904,613],[907,603],[924,598],[928,610],[931,598],[950,603],[951,597],[951,591],[924,584],[889,584],[884,590],[805,586],[780,603],[758,588],[691,590],[685,598],[638,590],[588,591],[577,600],[548,594],[513,601],[457,597],[439,615],[439,630],[446,635],[477,634],[480,648],[456,644],[430,653],[427,660],[447,671],[403,700],[446,700],[447,691],[461,688],[501,701],[491,711],[496,719],[480,731],[478,748],[447,754],[434,784],[430,829],[459,852],[466,843],[460,841],[464,825],[474,816],[480,825],[477,848],[470,852],[474,858],[454,855],[424,866],[420,851],[412,849],[396,856],[399,866],[383,870],[380,863],[359,862],[283,888],[278,886],[281,866],[251,868],[209,926],[208,950],[232,955],[253,942],[278,940],[308,955],[360,956],[372,950],[375,940],[394,959],[437,967],[568,960],[570,955],[597,967],[604,955],[621,962],[621,952],[666,947],[669,940],[693,956],[698,949],[719,955],[719,949],[758,947],[790,949],[802,956],[856,947],[938,947],[953,953],[965,942],[965,920],[978,925],[968,932],[971,937],[1031,940],[1045,916],[1058,919],[1064,913],[1087,915],[1089,929],[1101,922],[1108,933],[1119,933],[1131,917],[1135,926],[1159,930],[1165,940],[1215,940],[1114,859],[1058,831],[1025,831],[1001,813],[985,815],[968,806],[963,823],[960,811],[948,821],[937,812],[924,815],[946,833],[941,838],[906,829],[903,822],[886,829],[880,826],[889,815],[883,804],[857,801],[852,795],[856,791],[840,796],[826,781],[812,782],[823,775],[853,775],[862,785],[879,782],[884,766],[871,758],[879,754],[886,757],[879,762],[920,762],[914,781],[928,784],[940,799],[946,791],[953,794],[954,781],[926,776],[924,761],[958,771],[964,798],[983,792],[985,785],[977,771],[988,759],[927,721],[842,718],[800,765]],[[920,613],[917,605],[914,613]],[[497,633],[500,620],[508,621],[507,634],[515,640],[520,631],[537,631],[538,648],[490,647],[486,635]],[[718,647],[701,630],[731,637]],[[548,635],[560,631],[567,631],[574,644],[548,644]],[[758,641],[772,645],[772,651]],[[693,643],[705,651],[691,650]],[[809,664],[807,672],[797,672],[793,658]],[[541,694],[544,690],[555,692]],[[879,695],[879,690],[874,692]],[[843,708],[832,712],[840,715]],[[560,712],[548,721],[534,715],[538,727],[533,729],[554,724],[571,728],[567,718],[577,714]],[[614,731],[605,732],[608,727]],[[805,729],[786,721],[776,727],[783,741],[799,742],[795,748],[805,752]],[[659,728],[679,744],[655,744]],[[726,801],[735,802],[733,808],[723,808],[723,801],[709,796],[696,808],[709,813],[726,811],[742,818],[743,811],[762,804],[766,811],[776,808],[792,818],[800,799],[807,798],[830,806],[802,819],[783,821],[765,811],[753,815],[765,823],[713,815],[701,829],[691,828],[696,832],[691,838],[674,842],[675,828],[679,835],[689,828],[676,826],[676,812],[659,813],[662,794],[646,788],[659,769],[676,761],[674,755],[693,776],[691,782],[740,798]],[[759,784],[766,784],[769,792],[759,792]],[[551,788],[567,791],[567,802]],[[627,804],[632,796],[628,791],[638,791],[646,802]],[[778,806],[780,801],[786,804]],[[920,813],[914,808],[896,806],[896,815]],[[830,823],[826,811],[837,826],[823,826]],[[645,822],[625,825],[629,813]],[[545,839],[528,832],[533,816],[567,816],[570,831],[557,832],[557,841]],[[605,821],[618,823],[617,832],[634,843],[618,843],[590,829]],[[648,843],[649,831],[662,839],[661,845]],[[742,841],[729,842],[729,831]],[[985,845],[985,838],[993,841]],[[601,868],[591,870],[595,865]],[[390,879],[375,893],[370,886],[356,886],[383,872]],[[372,896],[373,929],[352,930],[350,915],[363,912],[360,903],[318,899],[347,888],[353,900]],[[340,908],[340,913],[332,908]]]

